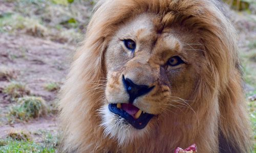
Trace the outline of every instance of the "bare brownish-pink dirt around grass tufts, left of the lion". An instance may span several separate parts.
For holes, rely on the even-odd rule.
[[[15,71],[15,81],[24,83],[32,95],[41,96],[48,106],[53,105],[56,92],[47,91],[47,83],[61,83],[67,74],[74,46],[60,44],[28,35],[0,35],[0,65]],[[12,105],[1,92],[9,81],[0,81],[0,138],[6,137],[11,129],[30,132],[45,130],[56,133],[54,115],[29,122],[9,124],[6,113]]]

